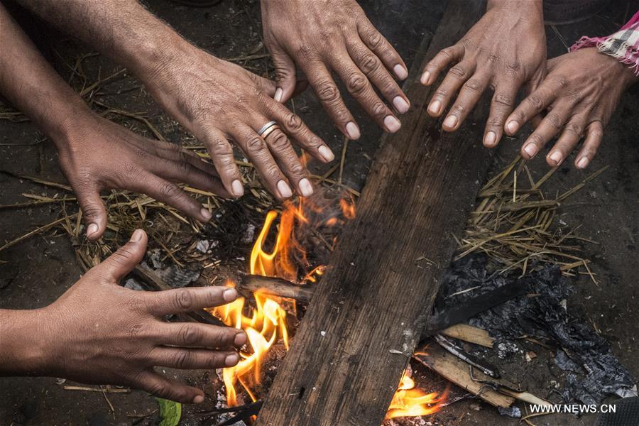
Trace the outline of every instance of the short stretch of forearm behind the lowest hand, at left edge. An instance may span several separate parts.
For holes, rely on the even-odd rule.
[[[0,376],[46,374],[43,310],[0,310]]]

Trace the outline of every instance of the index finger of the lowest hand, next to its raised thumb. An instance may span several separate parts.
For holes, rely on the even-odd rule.
[[[149,312],[158,317],[226,305],[237,298],[237,290],[221,286],[176,288],[141,294],[146,297]]]

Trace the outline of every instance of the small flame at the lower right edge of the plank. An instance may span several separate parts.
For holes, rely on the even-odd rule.
[[[386,413],[387,419],[429,415],[439,411],[446,395],[425,393],[415,388],[415,381],[404,372],[400,384],[393,395],[391,406]]]

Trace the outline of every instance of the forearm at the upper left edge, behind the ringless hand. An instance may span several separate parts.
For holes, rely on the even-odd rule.
[[[55,143],[61,143],[72,129],[72,121],[87,114],[89,108],[1,4],[0,40],[6,40],[0,49],[0,93]]]

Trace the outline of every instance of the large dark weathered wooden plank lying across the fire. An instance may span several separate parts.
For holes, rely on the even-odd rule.
[[[484,8],[451,1],[425,57],[456,43]],[[430,89],[420,69],[405,84],[413,107],[383,139],[357,217],[339,237],[256,425],[380,425],[391,403],[490,155],[481,146],[486,102],[469,117],[481,125],[442,134],[425,112]]]

